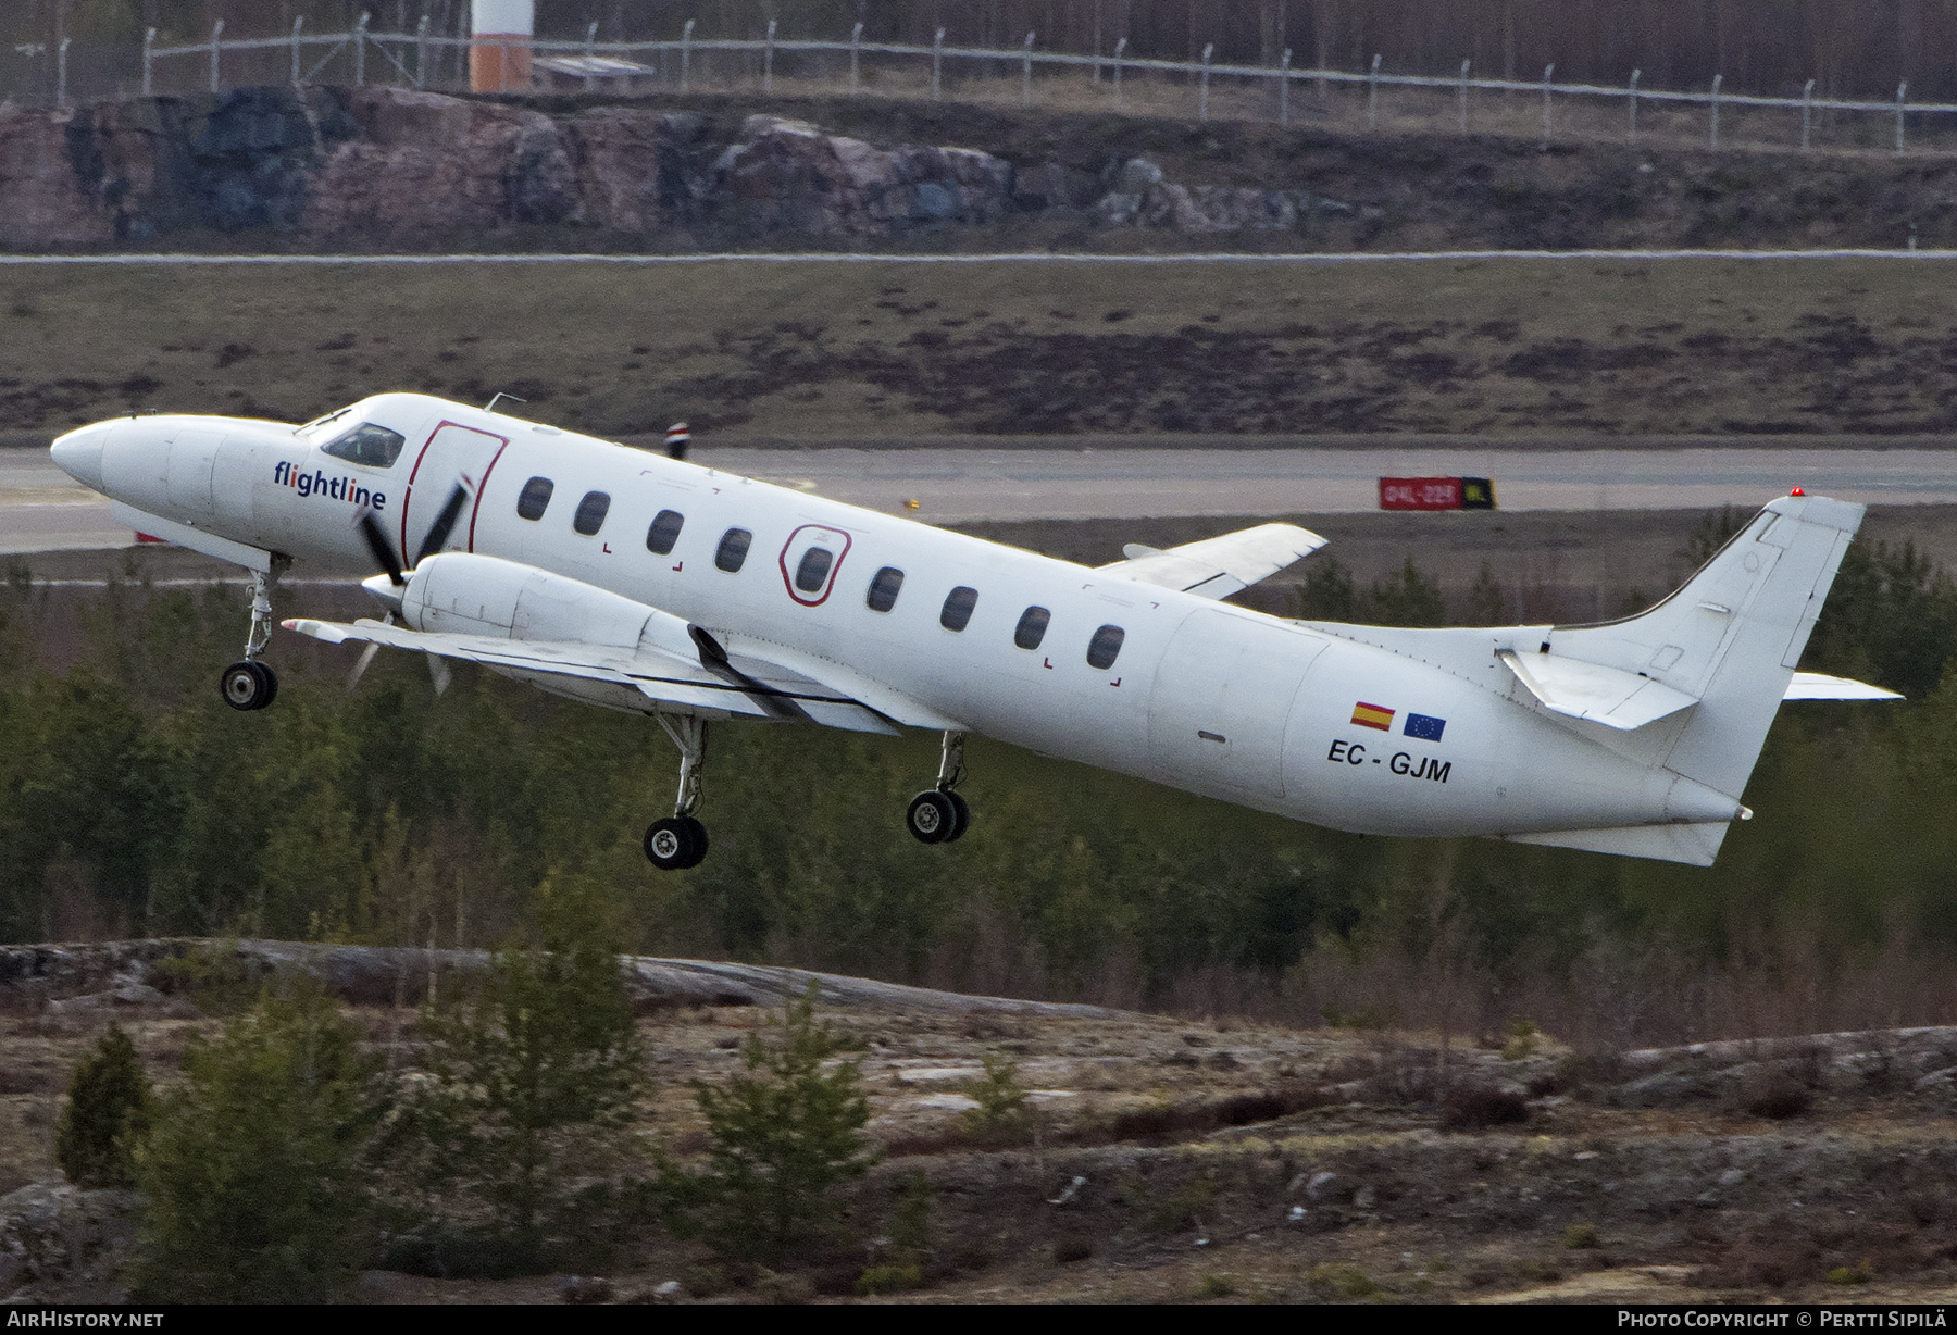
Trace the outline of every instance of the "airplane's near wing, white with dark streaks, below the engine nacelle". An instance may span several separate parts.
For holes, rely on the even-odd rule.
[[[636,691],[650,705],[663,705],[675,713],[793,718],[849,732],[896,732],[877,711],[859,705],[849,695],[753,654],[730,656],[697,626],[693,630],[699,630],[695,644],[701,656],[697,662],[687,662],[677,654],[646,646],[626,650],[581,640],[507,640],[487,634],[409,630],[368,619],[342,624],[301,617],[284,624],[288,630],[327,644],[362,640],[485,664],[534,685],[587,699],[595,697],[589,691],[564,689],[566,683],[599,683],[613,687],[614,697],[622,687]],[[556,687],[552,687],[552,679],[558,681]],[[599,699],[599,703],[607,701]]]

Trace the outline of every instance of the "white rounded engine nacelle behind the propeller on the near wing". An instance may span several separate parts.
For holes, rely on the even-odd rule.
[[[401,591],[401,621],[411,630],[699,654],[687,622],[671,613],[474,552],[442,552],[415,566]]]

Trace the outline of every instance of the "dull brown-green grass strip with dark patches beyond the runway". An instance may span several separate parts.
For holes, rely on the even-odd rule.
[[[605,435],[1935,433],[1957,290],[1894,260],[22,268],[0,438],[382,390]],[[1112,321],[1110,315],[1125,313]]]

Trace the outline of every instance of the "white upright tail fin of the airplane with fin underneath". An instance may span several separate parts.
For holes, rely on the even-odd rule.
[[[1695,699],[1673,720],[1640,728],[1636,742],[1616,736],[1624,750],[1650,746],[1650,763],[1738,803],[1861,517],[1849,501],[1783,495],[1669,599],[1626,621],[1556,628],[1554,652]],[[1640,848],[1626,848],[1634,834]],[[1523,838],[1708,865],[1724,834],[1716,822]]]

